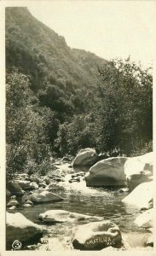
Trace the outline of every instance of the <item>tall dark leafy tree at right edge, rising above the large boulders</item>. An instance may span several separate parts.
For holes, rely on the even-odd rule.
[[[113,60],[99,72],[102,141],[130,154],[153,139],[152,74],[130,58]]]

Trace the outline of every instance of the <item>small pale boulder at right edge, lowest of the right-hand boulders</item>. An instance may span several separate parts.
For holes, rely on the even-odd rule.
[[[136,219],[135,219],[135,224],[138,225],[140,228],[153,228],[153,217],[154,217],[154,212],[153,208],[150,210],[147,210],[145,212],[142,212]]]

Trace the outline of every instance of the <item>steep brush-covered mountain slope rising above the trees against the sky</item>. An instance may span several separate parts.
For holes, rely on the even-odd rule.
[[[107,61],[85,50],[71,49],[65,38],[23,7],[6,8],[6,68],[31,76],[33,90],[58,84],[67,90],[100,82],[97,71]]]

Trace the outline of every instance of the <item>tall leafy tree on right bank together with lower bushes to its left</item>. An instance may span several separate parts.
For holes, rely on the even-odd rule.
[[[102,83],[97,85],[98,96],[90,114],[78,114],[61,125],[57,139],[61,151],[75,154],[85,147],[111,155],[142,151],[153,139],[150,69],[143,69],[128,58],[110,61],[99,67],[99,73]]]

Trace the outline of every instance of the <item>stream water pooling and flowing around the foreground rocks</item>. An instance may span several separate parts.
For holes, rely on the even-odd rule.
[[[130,247],[144,247],[143,240],[147,231],[139,229],[134,224],[134,220],[140,212],[136,208],[126,207],[122,203],[122,199],[128,195],[127,193],[120,194],[118,189],[87,188],[83,178],[80,183],[69,183],[69,179],[70,174],[66,175],[66,181],[61,183],[61,189],[53,191],[55,194],[61,195],[64,198],[63,201],[18,209],[18,212],[21,212],[32,222],[42,225],[45,230],[43,237],[45,244],[38,245],[35,248],[36,250],[71,250],[72,248],[67,244],[72,236],[72,228],[75,225],[87,223],[86,220],[78,223],[41,223],[38,219],[39,213],[52,209],[62,209],[111,220],[113,223],[118,224]],[[87,221],[90,222],[90,220]]]

